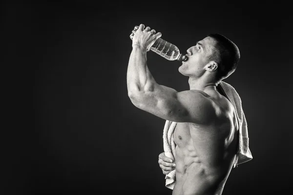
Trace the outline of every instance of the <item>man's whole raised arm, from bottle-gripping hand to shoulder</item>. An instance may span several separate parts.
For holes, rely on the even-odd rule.
[[[204,92],[176,90],[159,85],[152,77],[146,53],[161,34],[141,24],[132,39],[127,68],[127,90],[131,102],[157,117],[175,122],[205,123],[214,113],[212,101]],[[207,117],[209,116],[209,117]]]

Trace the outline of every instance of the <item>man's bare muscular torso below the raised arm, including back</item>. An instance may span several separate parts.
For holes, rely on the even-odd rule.
[[[217,117],[209,124],[176,125],[176,184],[172,195],[182,195],[183,191],[190,195],[221,194],[237,151],[238,121],[227,98],[214,102]]]

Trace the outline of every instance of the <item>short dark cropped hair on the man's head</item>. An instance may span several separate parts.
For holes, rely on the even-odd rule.
[[[215,50],[209,60],[218,63],[216,79],[220,81],[229,77],[236,70],[240,52],[235,43],[221,34],[209,34],[208,37],[216,40]]]

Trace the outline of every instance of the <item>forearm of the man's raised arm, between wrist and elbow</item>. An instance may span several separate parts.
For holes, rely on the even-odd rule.
[[[127,68],[128,93],[153,91],[156,84],[146,65],[146,49],[134,45]]]

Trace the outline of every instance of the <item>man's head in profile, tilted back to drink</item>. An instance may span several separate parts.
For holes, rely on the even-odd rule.
[[[238,47],[220,34],[210,34],[187,50],[188,60],[179,67],[185,76],[199,78],[211,73],[215,81],[220,81],[232,74],[240,59]]]

